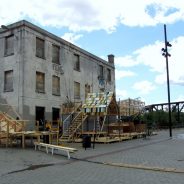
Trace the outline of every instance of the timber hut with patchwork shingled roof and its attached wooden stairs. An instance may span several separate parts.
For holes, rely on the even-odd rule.
[[[74,118],[67,128],[63,128],[61,141],[74,141],[75,138],[85,134],[98,135],[107,134],[104,131],[104,124],[108,116],[117,116],[119,107],[115,100],[113,92],[88,93],[85,103],[74,108],[67,118],[63,121],[63,127],[67,124],[67,120],[72,116]],[[93,117],[94,126],[92,130],[84,130],[84,123],[87,118]]]

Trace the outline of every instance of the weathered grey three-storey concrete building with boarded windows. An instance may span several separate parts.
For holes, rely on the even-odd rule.
[[[114,56],[105,61],[25,20],[0,29],[0,99],[23,119],[56,120],[67,102],[114,91]]]

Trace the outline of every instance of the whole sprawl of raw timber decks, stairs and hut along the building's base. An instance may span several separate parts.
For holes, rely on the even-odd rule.
[[[137,107],[137,101],[135,104],[136,106],[133,106],[132,102],[131,107]],[[43,130],[40,130],[38,122],[35,122],[34,130],[27,130],[28,120],[21,119],[12,106],[0,106],[4,109],[0,112],[0,144],[6,147],[20,145],[25,148],[26,140],[29,140],[29,146],[34,145],[34,142],[61,146],[67,142],[74,142],[91,147],[91,143],[94,142],[112,143],[140,138],[146,131],[145,124],[123,122],[118,119],[121,117],[122,108],[119,108],[113,92],[88,93],[84,104],[73,104],[73,107],[61,106],[61,119],[56,122],[45,122]],[[125,108],[132,110],[130,106],[123,106],[123,109]],[[48,139],[45,139],[46,137]],[[85,141],[88,141],[86,145]]]

